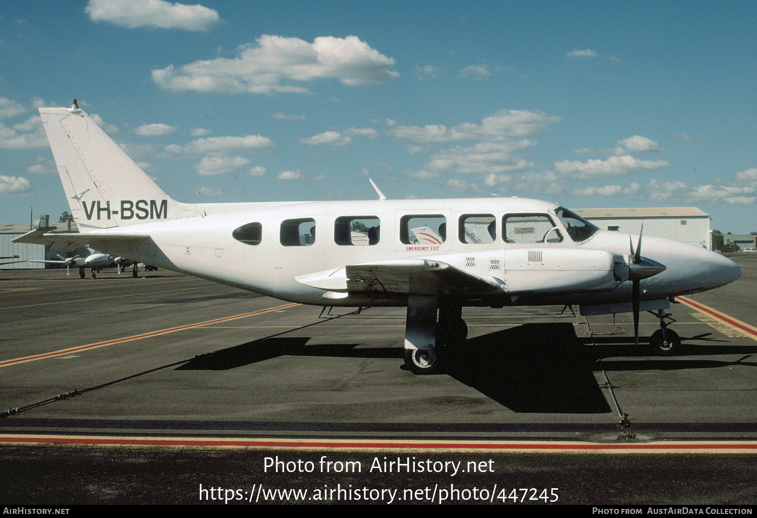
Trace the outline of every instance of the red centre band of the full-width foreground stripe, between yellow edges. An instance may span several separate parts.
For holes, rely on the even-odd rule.
[[[227,446],[254,448],[370,448],[370,449],[484,449],[536,451],[691,451],[691,450],[757,450],[757,442],[684,442],[653,444],[587,444],[587,443],[513,443],[513,442],[330,442],[271,440],[207,440],[207,439],[127,439],[66,438],[0,435],[0,442],[39,444],[126,445],[126,446]]]

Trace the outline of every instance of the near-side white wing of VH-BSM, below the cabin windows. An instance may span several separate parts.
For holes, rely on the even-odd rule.
[[[464,272],[435,259],[410,257],[325,270],[296,279],[307,286],[352,295],[371,293],[397,295],[437,295],[456,292],[464,295],[502,292],[503,282],[494,277]]]

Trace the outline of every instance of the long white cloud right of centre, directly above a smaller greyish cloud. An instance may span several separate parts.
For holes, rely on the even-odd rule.
[[[443,124],[427,126],[394,126],[386,133],[399,139],[415,142],[450,142],[453,140],[503,141],[506,137],[533,136],[544,133],[550,124],[558,123],[559,117],[550,117],[541,111],[500,110],[481,119],[481,124],[462,123],[451,128]],[[394,121],[392,121],[394,122]],[[522,148],[536,144],[520,141]],[[515,149],[513,149],[515,151]]]

